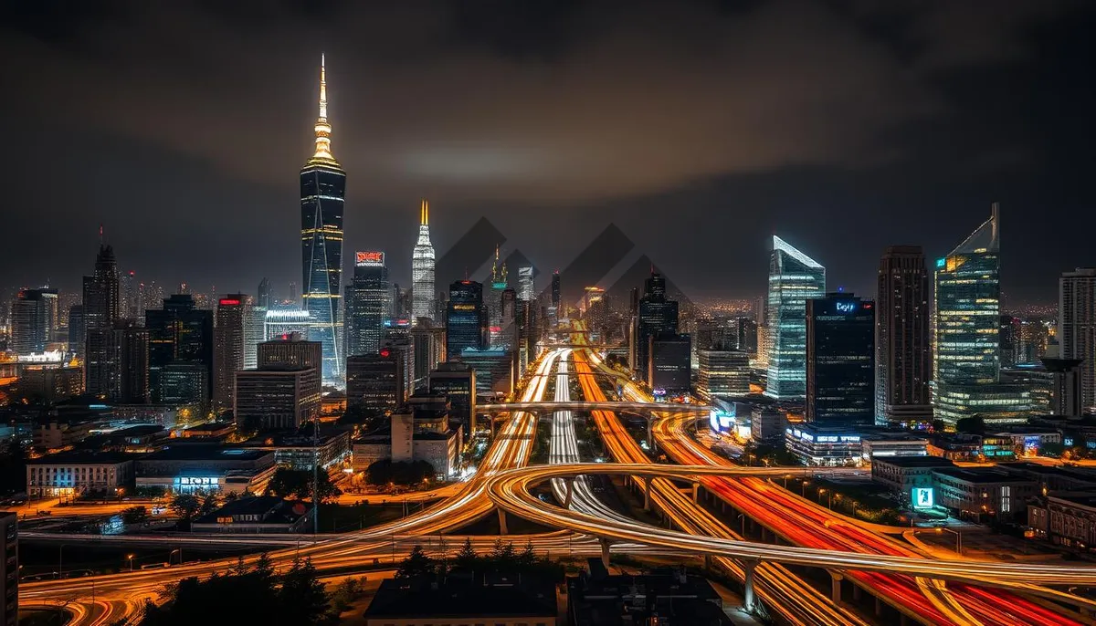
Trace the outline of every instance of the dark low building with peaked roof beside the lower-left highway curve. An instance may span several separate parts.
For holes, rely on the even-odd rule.
[[[308,528],[309,502],[283,500],[276,496],[254,496],[226,503],[191,522],[191,529],[206,533],[294,533]]]

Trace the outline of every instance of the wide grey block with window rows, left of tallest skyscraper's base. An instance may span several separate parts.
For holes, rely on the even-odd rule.
[[[316,368],[260,368],[236,372],[236,424],[243,428],[299,428],[320,414]]]

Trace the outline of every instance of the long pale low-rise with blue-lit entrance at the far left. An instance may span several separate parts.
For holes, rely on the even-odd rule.
[[[119,452],[67,451],[26,462],[28,498],[122,494],[134,485],[134,461]]]

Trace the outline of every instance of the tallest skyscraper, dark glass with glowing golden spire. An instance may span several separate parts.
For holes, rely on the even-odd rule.
[[[342,243],[346,172],[331,154],[327,69],[320,57],[320,116],[316,153],[300,171],[300,259],[305,311],[311,315],[309,338],[323,346],[322,379],[341,385]]]

